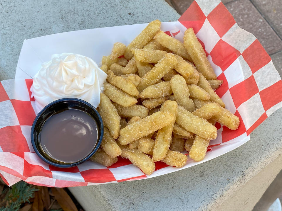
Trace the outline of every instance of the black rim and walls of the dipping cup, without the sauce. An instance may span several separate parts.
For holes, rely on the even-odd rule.
[[[70,109],[84,111],[89,114],[93,118],[93,121],[96,122],[98,135],[97,141],[93,141],[93,150],[90,153],[85,154],[85,157],[83,159],[80,159],[75,162],[62,162],[60,160],[56,160],[54,157],[49,156],[48,153],[44,151],[41,145],[41,131],[48,118],[55,114]],[[104,126],[102,118],[98,111],[90,103],[77,98],[63,98],[48,104],[38,113],[31,127],[31,143],[34,151],[43,161],[56,167],[68,168],[77,166],[78,164],[83,163],[84,161],[88,160],[91,156],[93,156],[93,154],[95,154],[95,152],[100,147],[103,138],[103,133]]]

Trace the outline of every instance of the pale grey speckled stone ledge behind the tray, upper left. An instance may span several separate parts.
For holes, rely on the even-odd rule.
[[[177,21],[179,17],[163,0],[1,0],[0,81],[14,78],[24,39],[155,19]]]

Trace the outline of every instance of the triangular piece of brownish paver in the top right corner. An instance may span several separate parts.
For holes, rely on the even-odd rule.
[[[282,38],[282,4],[281,0],[251,0],[262,16],[270,23]]]

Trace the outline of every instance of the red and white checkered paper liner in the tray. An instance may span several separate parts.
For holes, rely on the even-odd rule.
[[[239,28],[219,0],[194,1],[178,21],[165,33],[183,40],[186,28],[194,29],[218,79],[224,81],[216,93],[226,108],[240,118],[238,130],[217,123],[218,137],[211,141],[203,161],[188,159],[182,168],[156,162],[156,171],[150,176],[122,158],[110,167],[86,161],[68,169],[57,168],[43,162],[31,145],[31,125],[36,116],[29,91],[32,79],[6,80],[0,84],[1,178],[8,185],[24,180],[51,187],[139,180],[197,165],[248,141],[249,134],[282,107],[282,81],[271,58],[254,35]]]

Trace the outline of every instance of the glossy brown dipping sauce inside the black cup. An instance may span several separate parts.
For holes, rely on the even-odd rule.
[[[82,160],[92,152],[97,140],[96,121],[85,111],[73,108],[49,117],[40,132],[42,150],[64,163]]]

